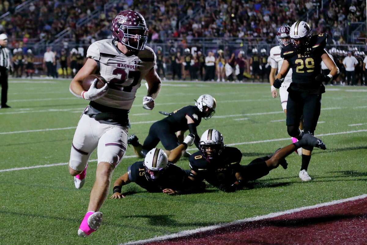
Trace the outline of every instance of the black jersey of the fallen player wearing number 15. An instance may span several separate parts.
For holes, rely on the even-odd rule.
[[[155,181],[148,181],[146,179],[142,161],[128,166],[127,174],[130,181],[137,183],[149,192],[162,192],[164,189],[185,191],[194,182],[188,178],[188,171],[172,163],[168,163],[164,173]]]

